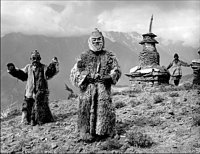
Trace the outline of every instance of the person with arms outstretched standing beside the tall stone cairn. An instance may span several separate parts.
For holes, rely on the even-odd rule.
[[[179,81],[182,77],[182,70],[181,70],[181,66],[185,66],[185,67],[190,67],[191,65],[186,63],[186,62],[183,62],[182,60],[179,60],[178,58],[178,54],[175,54],[174,55],[174,58],[177,57],[177,60],[173,60],[167,67],[167,69],[170,69],[172,67],[172,73],[171,73],[171,76],[172,76],[172,80],[174,80],[174,84],[176,86],[179,85]]]

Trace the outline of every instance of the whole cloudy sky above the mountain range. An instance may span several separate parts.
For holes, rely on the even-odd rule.
[[[200,1],[1,1],[1,37],[12,32],[66,37],[101,31],[152,32],[163,43],[200,47]]]

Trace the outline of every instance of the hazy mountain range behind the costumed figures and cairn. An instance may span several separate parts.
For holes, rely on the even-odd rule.
[[[122,77],[118,85],[128,85],[129,79],[124,75],[138,65],[138,54],[142,51],[139,42],[142,35],[137,32],[103,32],[105,36],[105,49],[113,51],[122,70]],[[42,57],[41,62],[49,64],[56,56],[60,62],[60,72],[49,81],[50,100],[65,99],[68,92],[65,83],[78,92],[69,80],[71,68],[81,52],[88,49],[89,35],[74,37],[47,37],[42,35],[24,35],[22,33],[10,33],[1,38],[1,110],[12,103],[21,104],[25,83],[14,79],[7,73],[6,64],[12,62],[18,68],[23,68],[30,63],[31,51],[37,49]],[[157,38],[156,46],[160,54],[160,65],[167,66],[173,59],[173,54],[179,54],[180,59],[190,63],[196,59],[197,49],[184,46],[183,42],[162,43],[164,38]],[[191,74],[192,69],[183,69],[183,74]]]

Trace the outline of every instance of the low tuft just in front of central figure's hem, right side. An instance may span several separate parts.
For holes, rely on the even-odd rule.
[[[106,142],[104,142],[101,146],[101,150],[115,150],[120,149],[122,147],[122,144],[117,139],[108,139]]]

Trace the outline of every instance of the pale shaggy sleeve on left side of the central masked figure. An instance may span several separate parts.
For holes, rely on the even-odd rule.
[[[88,73],[86,71],[80,71],[77,65],[78,62],[71,69],[70,81],[75,87],[83,88],[86,85],[85,80]]]

